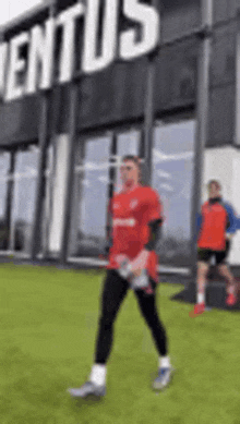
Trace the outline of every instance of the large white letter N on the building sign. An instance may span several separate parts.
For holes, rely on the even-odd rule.
[[[49,88],[51,85],[53,66],[53,43],[55,43],[55,21],[52,19],[45,23],[44,31],[39,25],[31,31],[31,48],[28,54],[27,84],[26,93],[32,94],[39,88]],[[41,74],[39,77],[39,63],[41,64]]]

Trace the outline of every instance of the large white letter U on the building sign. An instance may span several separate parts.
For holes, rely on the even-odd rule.
[[[100,71],[115,59],[117,46],[118,0],[106,0],[101,54],[96,56],[98,34],[99,0],[88,0],[85,20],[82,69],[85,73]]]

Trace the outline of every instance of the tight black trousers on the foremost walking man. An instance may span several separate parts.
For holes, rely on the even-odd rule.
[[[156,282],[151,280],[153,294],[146,294],[143,290],[135,290],[139,306],[154,338],[159,355],[167,354],[166,331],[160,323],[156,310]],[[106,364],[113,341],[113,324],[118,311],[129,290],[129,282],[121,278],[113,269],[107,271],[100,299],[100,315],[98,322],[98,335],[96,339],[95,363]]]

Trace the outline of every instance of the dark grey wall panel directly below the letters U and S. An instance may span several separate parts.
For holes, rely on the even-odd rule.
[[[146,58],[115,63],[80,83],[79,129],[139,118],[144,110]]]

